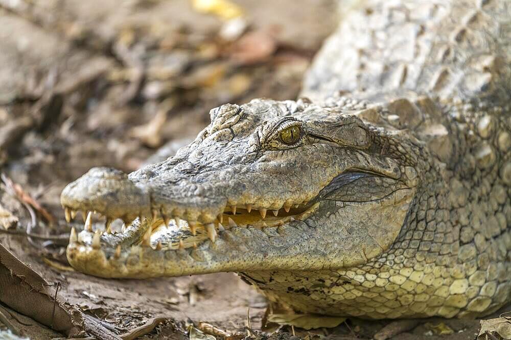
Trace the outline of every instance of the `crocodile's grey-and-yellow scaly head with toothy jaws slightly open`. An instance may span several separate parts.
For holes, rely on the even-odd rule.
[[[129,175],[94,168],[61,203],[90,214],[67,249],[103,277],[335,269],[366,263],[402,231],[421,185],[421,144],[369,123],[364,104],[255,99],[210,112],[168,160]],[[374,111],[374,110],[373,110]],[[123,232],[109,223],[124,220]]]

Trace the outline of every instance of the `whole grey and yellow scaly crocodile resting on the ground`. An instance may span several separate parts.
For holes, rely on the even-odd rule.
[[[236,272],[296,312],[366,319],[511,301],[511,3],[373,0],[341,17],[298,99],[224,104],[174,156],[68,184],[66,219],[86,217],[69,263]]]

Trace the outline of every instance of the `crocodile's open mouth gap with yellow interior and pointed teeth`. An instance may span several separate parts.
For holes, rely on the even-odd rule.
[[[145,224],[140,223],[143,217],[129,223],[124,222],[119,228],[119,224],[112,223],[112,217],[98,212],[73,210],[68,206],[64,206],[64,211],[67,222],[71,222],[79,212],[85,221],[83,231],[79,234],[73,228],[70,244],[78,243],[99,249],[105,246],[102,243],[106,243],[115,248],[113,252],[115,255],[121,251],[123,242],[120,240],[123,234],[135,235],[130,238],[131,246],[151,247],[153,250],[197,248],[207,240],[215,243],[222,237],[222,232],[231,228],[274,228],[304,220],[318,205],[319,203],[310,202],[283,206],[278,210],[253,208],[251,204],[233,205],[226,207],[213,222],[206,224],[188,221],[178,216],[167,216],[153,210],[151,223],[145,230],[143,230]]]

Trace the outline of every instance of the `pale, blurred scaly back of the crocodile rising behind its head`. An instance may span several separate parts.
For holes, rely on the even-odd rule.
[[[509,101],[510,1],[373,0],[342,11],[304,95],[410,90],[448,101]]]

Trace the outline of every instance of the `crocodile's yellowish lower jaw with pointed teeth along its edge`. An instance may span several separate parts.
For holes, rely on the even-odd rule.
[[[83,230],[77,236],[73,230],[67,258],[75,269],[107,278],[350,267],[388,249],[398,236],[413,195],[414,190],[402,190],[382,201],[365,204],[366,213],[358,217],[354,212],[360,204],[339,205],[337,217],[350,222],[343,228],[331,228],[331,217],[325,212],[331,211],[332,206],[316,203],[302,214],[303,221],[295,219],[266,228],[226,227],[218,232],[215,242],[200,227],[195,236],[179,233],[185,226],[176,229],[171,220],[173,231],[167,232],[174,232],[177,237],[165,248],[158,241],[161,227],[152,228],[150,218],[135,220],[123,234]],[[305,218],[307,214],[309,217]],[[377,219],[369,219],[375,214]],[[133,245],[134,240],[142,242]]]

